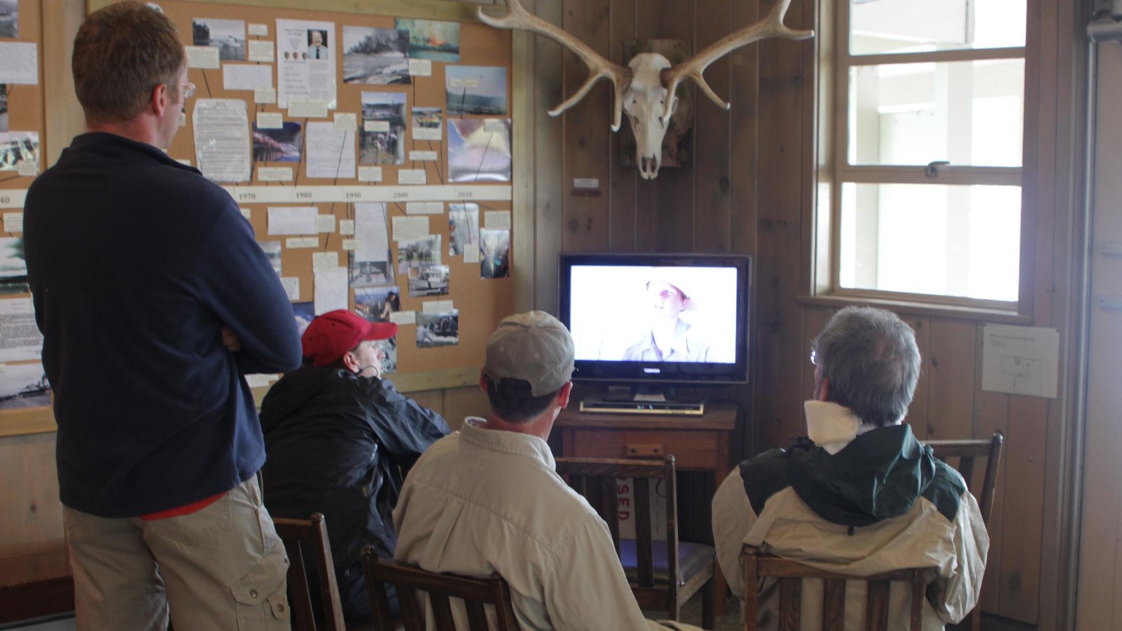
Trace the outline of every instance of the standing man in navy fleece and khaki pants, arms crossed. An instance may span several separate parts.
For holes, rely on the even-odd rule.
[[[300,364],[285,292],[230,195],[162,150],[194,91],[172,22],[98,11],[73,72],[89,132],[28,191],[25,248],[77,629],[288,629],[242,378]]]

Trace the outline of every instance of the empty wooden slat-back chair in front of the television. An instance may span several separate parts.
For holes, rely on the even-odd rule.
[[[624,573],[642,609],[665,610],[678,620],[682,604],[699,589],[701,625],[716,628],[714,602],[716,552],[712,546],[678,541],[678,500],[674,457],[663,460],[613,460],[603,458],[558,458],[557,472],[583,495],[604,518],[619,554]],[[634,481],[633,514],[635,539],[619,538],[618,478]],[[652,538],[650,485],[665,486],[666,541]]]

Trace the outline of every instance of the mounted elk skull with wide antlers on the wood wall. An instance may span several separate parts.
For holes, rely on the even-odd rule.
[[[701,92],[727,110],[729,104],[714,93],[701,73],[712,62],[753,42],[813,37],[813,30],[792,30],[783,26],[783,16],[790,4],[791,0],[776,0],[763,20],[723,37],[677,66],[657,53],[640,53],[626,67],[610,62],[580,39],[527,11],[519,0],[507,0],[508,11],[502,18],[484,13],[482,8],[478,9],[478,13],[480,20],[495,28],[522,29],[544,35],[571,51],[588,66],[589,74],[585,84],[565,102],[549,110],[550,116],[558,116],[579,103],[597,81],[610,80],[615,86],[611,130],[619,130],[623,113],[627,112],[627,120],[635,134],[635,164],[644,180],[654,180],[662,163],[662,139],[666,135],[670,116],[678,107],[678,97],[674,95],[678,85],[683,80],[693,80]]]

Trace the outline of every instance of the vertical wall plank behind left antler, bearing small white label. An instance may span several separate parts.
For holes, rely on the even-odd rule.
[[[564,0],[564,30],[608,56],[610,3]],[[574,93],[588,77],[588,67],[574,54],[564,52],[565,94]],[[564,167],[561,194],[564,201],[565,252],[608,249],[608,196],[573,196],[576,177],[608,181],[608,140],[611,132],[611,85],[600,81],[585,99],[564,113]]]

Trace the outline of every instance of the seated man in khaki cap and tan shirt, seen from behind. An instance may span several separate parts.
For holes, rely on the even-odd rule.
[[[545,439],[572,369],[572,337],[552,316],[499,322],[479,376],[490,413],[468,418],[410,472],[394,557],[429,571],[497,571],[523,629],[690,629],[643,618],[607,524],[554,472]]]

